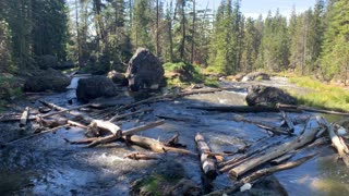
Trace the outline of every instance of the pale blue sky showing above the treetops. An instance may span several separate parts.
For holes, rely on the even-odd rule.
[[[220,0],[196,0],[200,8],[205,8],[207,2],[209,8],[217,8]],[[294,5],[298,13],[308,10],[315,4],[316,0],[241,0],[241,12],[245,16],[257,17],[260,14],[266,16],[270,10],[273,13],[278,8],[280,13],[289,16]]]

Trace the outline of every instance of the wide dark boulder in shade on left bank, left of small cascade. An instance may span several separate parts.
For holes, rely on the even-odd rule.
[[[32,76],[26,77],[24,90],[25,91],[63,91],[70,84],[70,78],[60,71],[48,69],[39,70]]]

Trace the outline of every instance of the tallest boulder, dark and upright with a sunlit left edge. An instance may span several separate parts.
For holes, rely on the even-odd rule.
[[[129,62],[127,77],[132,90],[155,89],[159,87],[164,73],[160,60],[149,50],[140,48]]]

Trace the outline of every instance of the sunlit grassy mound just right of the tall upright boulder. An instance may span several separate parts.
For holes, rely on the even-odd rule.
[[[218,87],[218,79],[216,77],[206,77],[203,74],[203,69],[190,63],[165,63],[165,75],[178,74],[172,78],[167,78],[167,85],[169,86],[188,86],[191,84],[203,83],[206,86]]]

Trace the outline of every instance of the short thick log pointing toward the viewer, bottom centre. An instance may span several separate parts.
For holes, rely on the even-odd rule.
[[[202,166],[201,168],[203,172],[209,179],[215,179],[217,176],[215,159],[208,155],[210,152],[210,149],[205,142],[204,136],[200,133],[196,133],[195,142],[197,145],[197,150],[200,152],[200,160]]]

